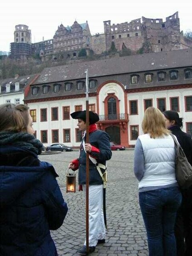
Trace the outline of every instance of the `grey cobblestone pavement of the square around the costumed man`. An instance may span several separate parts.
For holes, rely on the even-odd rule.
[[[40,159],[53,164],[59,174],[58,183],[68,205],[62,227],[51,232],[58,255],[78,255],[85,241],[85,201],[82,192],[66,193],[66,172],[70,160],[78,151],[41,155]],[[143,218],[138,204],[138,184],[133,173],[134,150],[113,151],[107,162],[108,185],[106,213],[108,232],[106,243],[96,246],[91,256],[147,256],[148,246]],[[77,179],[78,179],[78,171]]]

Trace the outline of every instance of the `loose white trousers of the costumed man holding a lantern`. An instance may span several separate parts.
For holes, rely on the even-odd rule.
[[[83,185],[86,197],[86,185]],[[103,185],[89,186],[89,246],[96,246],[98,239],[106,238],[103,216]],[[86,241],[84,243],[86,245]]]

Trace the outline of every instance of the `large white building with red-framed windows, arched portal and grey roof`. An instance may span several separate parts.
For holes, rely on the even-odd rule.
[[[178,111],[183,131],[192,135],[192,49],[185,49],[45,68],[24,98],[44,145],[80,145],[70,113],[86,109],[86,69],[89,109],[111,141],[134,147],[149,106]]]

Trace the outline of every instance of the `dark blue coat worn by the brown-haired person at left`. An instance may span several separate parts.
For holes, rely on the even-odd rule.
[[[50,229],[67,204],[53,166],[17,147],[0,147],[0,256],[56,256]]]

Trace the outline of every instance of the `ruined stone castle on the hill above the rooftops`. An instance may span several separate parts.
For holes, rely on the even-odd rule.
[[[14,44],[21,44],[20,39],[16,41],[17,33],[15,30]],[[26,43],[31,45],[30,41]],[[82,48],[86,49],[87,54],[101,54],[109,52],[112,45],[117,52],[121,52],[122,49],[133,54],[167,52],[191,48],[192,40],[186,40],[180,32],[180,22],[176,12],[164,22],[163,19],[145,17],[142,17],[142,20],[139,18],[121,24],[111,24],[110,20],[107,20],[104,21],[104,34],[95,35],[91,35],[87,21],[83,24],[75,21],[71,27],[61,24],[53,39],[34,43],[31,49],[32,53],[40,54],[41,57],[53,55],[53,58],[56,58],[55,56],[76,58]],[[14,57],[12,49],[11,55]]]

